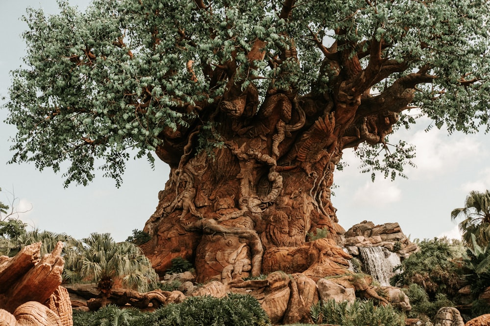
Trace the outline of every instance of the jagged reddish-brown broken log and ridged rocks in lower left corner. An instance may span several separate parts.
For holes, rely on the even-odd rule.
[[[41,242],[0,257],[1,326],[72,326],[68,291],[61,287],[63,243],[40,257]]]

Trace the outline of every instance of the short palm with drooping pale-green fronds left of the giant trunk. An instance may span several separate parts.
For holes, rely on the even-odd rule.
[[[155,287],[158,276],[139,247],[130,242],[115,242],[110,234],[92,233],[89,238],[72,240],[65,248],[63,278],[68,283],[96,282],[102,306],[112,293],[114,279],[145,292]]]

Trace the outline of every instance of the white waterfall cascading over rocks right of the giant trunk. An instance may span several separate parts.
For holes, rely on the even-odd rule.
[[[390,285],[393,267],[400,264],[397,254],[382,247],[359,247],[366,272],[383,286]]]

